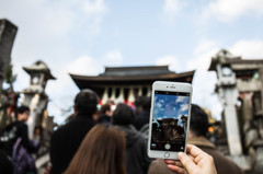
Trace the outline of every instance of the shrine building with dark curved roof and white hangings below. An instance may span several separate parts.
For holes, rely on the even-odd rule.
[[[108,100],[117,103],[134,103],[137,96],[150,96],[155,81],[192,83],[194,72],[193,70],[175,73],[170,71],[168,66],[106,67],[105,71],[99,76],[70,73],[70,77],[80,90],[95,91],[103,104]]]

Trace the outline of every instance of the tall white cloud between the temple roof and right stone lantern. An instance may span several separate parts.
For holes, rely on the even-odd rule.
[[[208,71],[211,57],[219,51],[217,43],[214,40],[202,40],[194,49],[194,57],[187,63],[187,69],[195,69],[193,81],[193,100],[202,107],[211,111],[213,116],[220,119],[221,107],[217,95],[213,95],[217,81],[216,73]]]

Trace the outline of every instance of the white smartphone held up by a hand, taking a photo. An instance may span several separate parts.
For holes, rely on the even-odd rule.
[[[190,83],[156,81],[149,124],[148,155],[178,159],[187,143],[192,85]]]

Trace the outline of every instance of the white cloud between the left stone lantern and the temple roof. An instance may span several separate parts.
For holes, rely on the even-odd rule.
[[[55,69],[57,80],[48,82],[52,83],[50,88],[47,88],[47,94],[50,97],[48,104],[49,114],[55,115],[55,121],[62,124],[70,113],[62,115],[65,109],[71,108],[73,105],[73,98],[79,92],[79,89],[70,78],[69,73],[84,74],[84,76],[98,76],[103,71],[103,66],[91,56],[81,56],[67,65],[61,69]],[[57,73],[56,73],[57,72]]]

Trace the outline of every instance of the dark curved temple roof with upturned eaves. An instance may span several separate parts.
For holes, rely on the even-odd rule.
[[[107,67],[99,76],[70,74],[79,89],[104,88],[105,85],[145,85],[157,80],[192,83],[195,71],[175,73],[168,66],[155,67]]]

